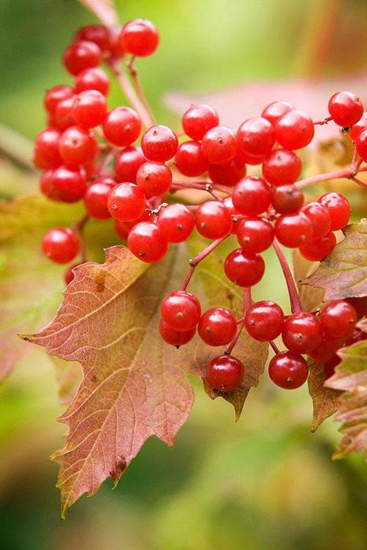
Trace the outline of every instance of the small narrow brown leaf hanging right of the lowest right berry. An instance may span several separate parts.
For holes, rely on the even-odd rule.
[[[311,431],[316,431],[318,426],[337,411],[338,395],[335,390],[326,388],[323,365],[313,359],[308,360],[308,393],[313,401],[313,421]]]

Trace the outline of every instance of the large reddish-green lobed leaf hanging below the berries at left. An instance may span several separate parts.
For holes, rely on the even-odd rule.
[[[190,255],[186,245],[177,246],[164,261],[148,267],[122,246],[107,249],[103,265],[76,268],[54,321],[25,336],[83,367],[83,382],[61,417],[69,426],[66,444],[54,454],[60,465],[63,517],[83,493],[94,494],[107,477],[117,483],[149,436],[172,446],[188,417],[193,404],[188,373],[203,372],[217,350],[198,339],[176,350],[162,342],[157,326],[162,297],[181,286]],[[208,271],[206,262],[193,278],[192,292],[203,307],[221,304],[222,294],[233,302],[232,285],[221,284],[218,267]],[[265,363],[265,347],[256,351]],[[253,362],[258,374],[252,373],[251,381],[248,376],[248,385],[257,383],[263,369],[260,359]],[[236,397],[237,414],[243,399],[244,391]]]

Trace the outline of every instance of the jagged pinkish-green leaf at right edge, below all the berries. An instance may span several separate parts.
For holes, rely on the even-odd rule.
[[[327,388],[342,391],[335,420],[343,422],[337,451],[333,458],[367,451],[367,340],[337,352],[342,362],[325,382]]]

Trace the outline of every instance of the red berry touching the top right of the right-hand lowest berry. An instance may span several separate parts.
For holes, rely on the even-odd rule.
[[[311,352],[323,342],[320,321],[312,313],[294,313],[284,321],[282,339],[291,352]]]

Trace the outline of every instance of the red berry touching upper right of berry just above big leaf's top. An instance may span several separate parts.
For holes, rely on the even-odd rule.
[[[195,218],[187,206],[174,203],[162,208],[157,225],[170,243],[186,241],[195,227]]]

